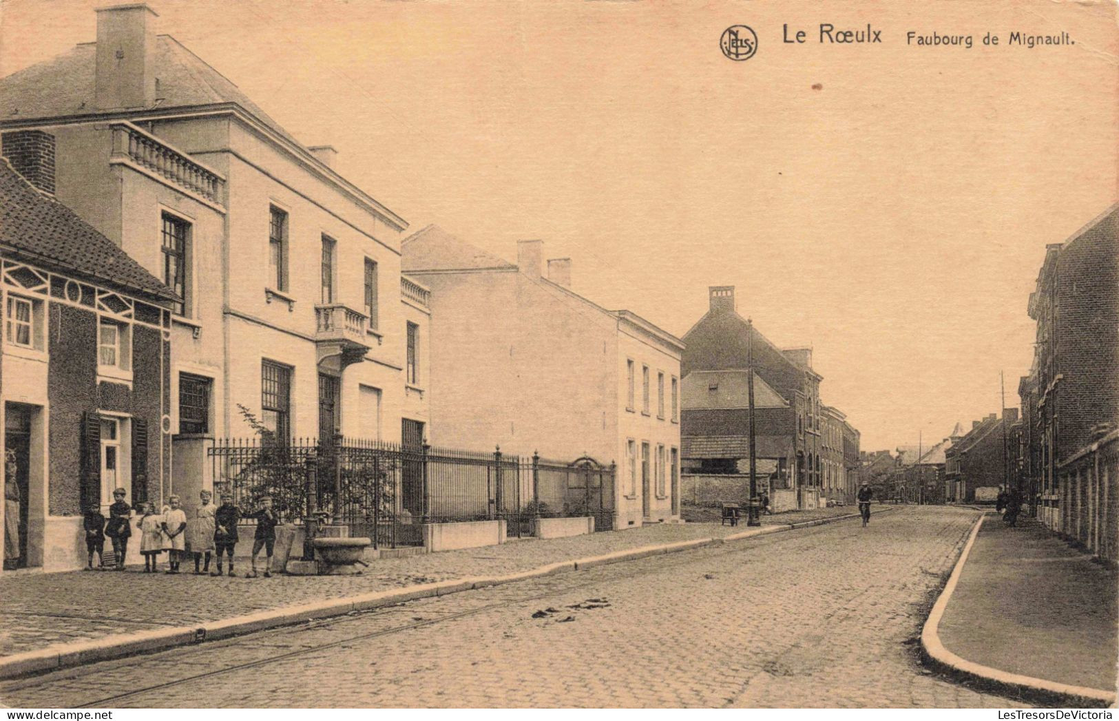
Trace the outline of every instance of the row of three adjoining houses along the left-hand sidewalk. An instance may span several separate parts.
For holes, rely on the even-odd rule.
[[[156,22],[100,9],[95,43],[0,79],[21,218],[0,247],[6,565],[75,568],[82,505],[115,487],[191,503],[207,449],[251,419],[323,444],[591,457],[617,464],[617,527],[678,517],[678,338],[575,293],[538,241],[510,263],[436,227],[405,238],[333,148]]]

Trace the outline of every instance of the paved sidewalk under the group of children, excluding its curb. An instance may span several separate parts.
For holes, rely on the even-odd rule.
[[[843,508],[827,509],[843,512]],[[818,521],[841,513],[796,512],[767,516],[767,525]],[[847,509],[849,514],[850,511]],[[777,521],[774,521],[774,518]],[[626,531],[375,561],[361,575],[282,575],[246,579],[123,573],[6,573],[0,577],[0,664],[4,657],[56,644],[206,624],[283,607],[339,599],[440,581],[520,573],[557,562],[609,553],[740,534],[744,525],[662,524]],[[166,565],[166,564],[164,564]]]

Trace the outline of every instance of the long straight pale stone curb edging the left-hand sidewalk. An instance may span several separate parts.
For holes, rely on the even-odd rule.
[[[535,569],[508,573],[506,575],[452,579],[449,581],[440,581],[439,583],[423,583],[420,586],[408,586],[402,589],[373,591],[358,596],[325,599],[322,601],[314,601],[298,606],[285,606],[267,611],[261,611],[258,614],[234,616],[232,618],[207,621],[197,626],[158,628],[133,634],[105,636],[103,638],[86,642],[55,644],[54,646],[48,646],[46,648],[0,657],[0,680],[57,671],[59,668],[81,666],[101,661],[111,661],[114,658],[131,656],[133,654],[164,650],[176,646],[186,646],[205,640],[218,640],[222,638],[241,636],[280,626],[291,626],[308,620],[329,618],[331,616],[345,616],[351,611],[364,611],[373,608],[380,608],[383,606],[395,606],[397,603],[421,598],[446,596],[449,593],[458,593],[470,589],[526,581],[529,579],[552,575],[554,573],[593,569],[609,563],[637,561],[652,555],[690,551],[718,543],[743,541],[755,536],[782,533],[784,531],[793,531],[796,528],[822,525],[857,517],[858,514],[852,514],[834,516],[830,518],[819,518],[816,521],[805,521],[801,523],[768,525],[760,528],[751,528],[749,531],[735,533],[722,539],[695,539],[692,541],[677,541],[675,543],[627,549],[623,551],[614,551],[612,553],[589,556],[585,559],[548,563]]]

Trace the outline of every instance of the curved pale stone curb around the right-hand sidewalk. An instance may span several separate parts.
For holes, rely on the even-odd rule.
[[[1009,690],[1013,693],[1025,693],[1032,696],[1040,696],[1049,701],[1055,701],[1062,706],[1113,706],[1116,704],[1116,694],[1112,692],[1101,691],[1099,689],[1089,689],[1087,686],[1073,686],[1057,683],[1055,681],[1034,678],[1032,676],[1024,676],[1008,671],[1000,671],[998,668],[991,668],[990,666],[984,666],[982,664],[977,664],[957,656],[941,643],[940,635],[937,630],[940,627],[940,619],[944,616],[944,609],[948,608],[948,601],[952,598],[952,593],[956,591],[956,586],[960,580],[963,565],[967,563],[968,555],[971,553],[971,546],[975,545],[976,536],[979,535],[979,528],[982,526],[982,522],[987,517],[988,513],[990,512],[982,513],[971,527],[971,533],[968,536],[967,542],[963,544],[960,558],[956,562],[956,566],[952,569],[951,575],[948,578],[948,583],[944,584],[944,589],[937,598],[937,602],[933,605],[932,611],[929,614],[929,618],[924,621],[924,627],[921,629],[921,650],[923,652],[925,659],[943,671],[978,681],[984,685],[994,685],[1003,691]]]

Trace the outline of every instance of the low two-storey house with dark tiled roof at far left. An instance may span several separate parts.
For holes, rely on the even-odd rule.
[[[107,511],[116,488],[133,505],[170,494],[170,327],[179,301],[0,160],[0,450],[13,461],[6,488],[19,497],[0,511],[13,514],[0,518],[6,569],[79,568],[86,507]]]

